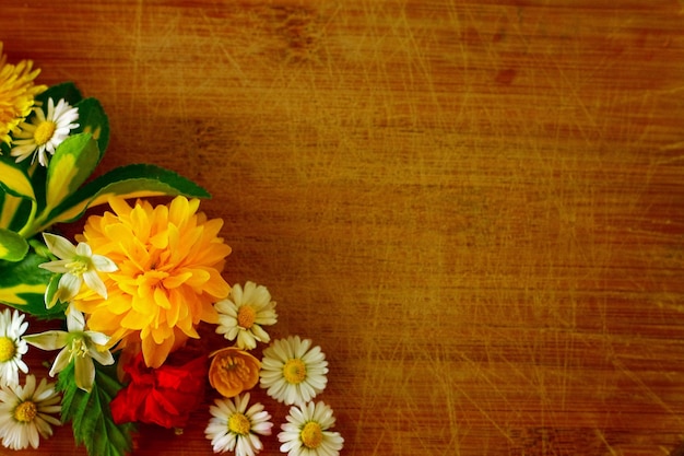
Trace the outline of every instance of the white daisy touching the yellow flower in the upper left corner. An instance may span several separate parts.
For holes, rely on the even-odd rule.
[[[55,150],[67,139],[71,130],[79,128],[74,124],[79,119],[79,108],[71,107],[64,100],[55,106],[55,101],[47,101],[47,116],[42,108],[34,108],[35,116],[31,122],[21,122],[15,135],[14,147],[10,154],[16,156],[16,162],[23,162],[33,155],[32,163],[38,156],[42,166],[47,166],[48,153]]]

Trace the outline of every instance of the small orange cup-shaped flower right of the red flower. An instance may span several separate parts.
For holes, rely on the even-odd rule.
[[[223,397],[234,397],[259,382],[261,362],[251,354],[228,347],[211,354],[209,383]]]

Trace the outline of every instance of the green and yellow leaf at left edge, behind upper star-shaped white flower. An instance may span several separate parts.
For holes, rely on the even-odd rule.
[[[0,260],[0,302],[39,318],[63,317],[63,305],[45,306],[45,289],[52,277],[38,268],[45,261],[33,250],[21,261]]]

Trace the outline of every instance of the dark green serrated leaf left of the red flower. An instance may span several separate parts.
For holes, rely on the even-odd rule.
[[[95,363],[95,383],[90,393],[76,386],[73,362],[59,373],[57,389],[63,393],[62,422],[71,421],[74,442],[85,444],[91,456],[125,456],[132,447],[134,425],[116,424],[109,409],[121,387],[116,364]]]

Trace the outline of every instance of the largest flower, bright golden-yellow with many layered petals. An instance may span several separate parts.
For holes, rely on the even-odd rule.
[[[110,346],[142,348],[150,367],[198,338],[200,321],[217,323],[213,303],[231,292],[221,277],[231,253],[217,237],[223,220],[208,220],[199,204],[176,197],[169,204],[139,200],[130,207],[113,198],[114,212],[90,217],[76,236],[119,269],[103,274],[106,299],[85,290],[73,305],[89,315],[90,329],[111,337]]]

